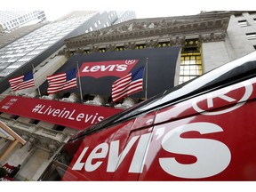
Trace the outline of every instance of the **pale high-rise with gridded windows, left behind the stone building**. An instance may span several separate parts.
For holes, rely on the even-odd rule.
[[[133,17],[134,13],[131,14],[130,19]],[[116,20],[118,20],[116,12],[71,12],[60,20],[47,23],[2,47],[0,49],[2,90],[9,87],[8,78],[20,76],[24,71],[31,70],[33,65],[34,67],[39,65],[50,57],[52,52],[64,46],[64,39],[109,27]],[[4,78],[5,76],[7,77]]]

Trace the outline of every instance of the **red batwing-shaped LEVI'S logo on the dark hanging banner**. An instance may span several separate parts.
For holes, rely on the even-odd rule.
[[[126,76],[139,60],[108,60],[84,62],[79,68],[80,76]]]

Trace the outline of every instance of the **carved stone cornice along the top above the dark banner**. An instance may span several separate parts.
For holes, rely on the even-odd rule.
[[[205,14],[171,18],[129,20],[65,41],[66,51],[85,47],[93,52],[100,46],[115,47],[123,44],[132,49],[132,44],[144,42],[154,46],[167,40],[171,45],[182,45],[185,39],[198,38],[201,42],[223,41],[230,14]]]

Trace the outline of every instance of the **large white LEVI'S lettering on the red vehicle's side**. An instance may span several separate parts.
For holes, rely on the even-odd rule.
[[[165,172],[170,176],[186,179],[202,179],[223,172],[231,161],[229,148],[219,140],[204,138],[182,138],[185,132],[199,132],[201,135],[207,133],[223,132],[223,129],[212,123],[198,122],[171,127],[172,123],[159,125],[154,132],[136,135],[128,141],[127,145],[120,151],[120,140],[112,140],[99,143],[96,147],[82,147],[83,150],[76,159],[72,170],[81,172],[94,172],[106,169],[103,172],[116,172],[120,164],[125,162],[126,156],[132,153],[132,161],[126,166],[131,173],[147,172],[147,157],[156,156],[157,163],[150,166],[160,166],[159,172]],[[148,141],[150,140],[149,146]],[[160,145],[159,151],[153,148]],[[135,151],[132,150],[135,148]],[[152,151],[157,152],[151,154]],[[212,153],[216,151],[216,153]],[[217,152],[218,151],[218,152]],[[162,155],[157,156],[158,153]],[[196,156],[196,162],[181,164],[171,153]],[[102,166],[107,164],[107,166]],[[106,168],[103,168],[106,167]],[[148,167],[148,169],[141,169]]]

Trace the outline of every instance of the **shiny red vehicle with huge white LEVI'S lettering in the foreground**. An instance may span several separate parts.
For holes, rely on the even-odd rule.
[[[39,180],[256,180],[256,52],[78,132]]]

